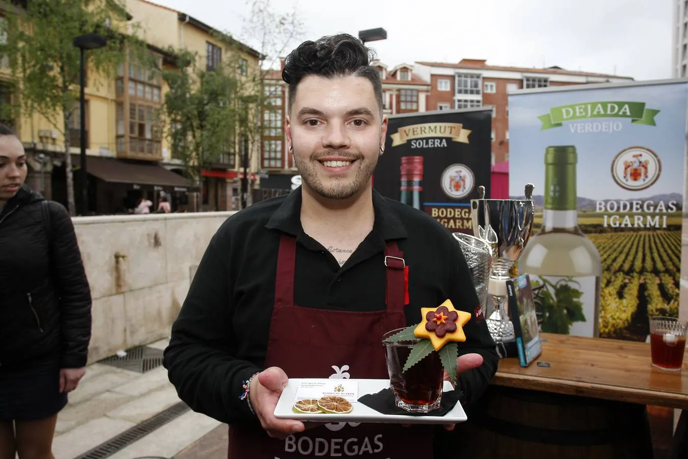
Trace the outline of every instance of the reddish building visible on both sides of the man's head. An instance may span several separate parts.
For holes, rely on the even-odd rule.
[[[383,112],[386,115],[426,111],[431,88],[413,71],[411,64],[389,68],[385,63],[372,63],[383,83]],[[281,61],[281,67],[283,61]],[[268,107],[264,111],[264,140],[261,151],[260,190],[257,200],[290,191],[299,178],[294,158],[286,149],[284,120],[288,105],[288,91],[281,70],[272,70],[265,76],[265,94]]]

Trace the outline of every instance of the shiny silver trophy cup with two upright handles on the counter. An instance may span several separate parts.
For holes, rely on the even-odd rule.
[[[533,184],[526,185],[524,200],[488,200],[485,187],[478,188],[478,199],[471,200],[473,234],[492,249],[492,268],[488,294],[494,309],[487,319],[487,327],[496,343],[515,339],[513,323],[506,313],[506,281],[509,270],[523,252],[533,227]]]

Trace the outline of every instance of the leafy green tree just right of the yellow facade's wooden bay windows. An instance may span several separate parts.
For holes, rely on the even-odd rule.
[[[235,149],[239,118],[246,110],[246,96],[235,61],[224,61],[215,70],[197,64],[196,53],[169,50],[176,55],[176,69],[164,70],[169,88],[162,103],[166,136],[173,156],[182,160],[184,172],[202,186],[202,172]],[[196,209],[200,209],[197,194]]]

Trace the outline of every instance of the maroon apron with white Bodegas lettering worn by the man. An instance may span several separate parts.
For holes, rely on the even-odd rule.
[[[404,313],[403,253],[395,242],[385,248],[387,309],[332,311],[294,305],[296,239],[283,235],[277,256],[275,308],[264,367],[280,367],[293,378],[387,379],[383,334],[407,326]],[[360,394],[363,395],[363,394]],[[270,438],[261,427],[229,428],[228,459],[291,459],[356,456],[366,459],[431,459],[430,426],[328,423]]]

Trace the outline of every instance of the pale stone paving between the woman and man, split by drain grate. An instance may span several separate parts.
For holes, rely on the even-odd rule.
[[[150,346],[164,349],[166,344],[165,339]],[[54,440],[55,459],[78,458],[86,451],[178,402],[180,400],[162,366],[140,374],[103,363],[89,365],[78,389],[70,394],[69,405],[58,416]],[[208,416],[187,411],[108,457],[173,458],[218,426],[221,430],[226,429]],[[204,446],[205,443],[200,445]],[[187,453],[182,457],[191,459],[215,456],[190,456]]]

